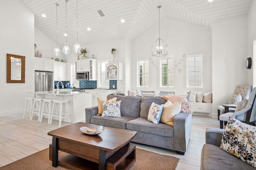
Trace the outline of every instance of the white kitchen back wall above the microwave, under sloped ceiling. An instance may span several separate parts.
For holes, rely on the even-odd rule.
[[[79,38],[79,37],[78,37]],[[112,39],[109,41],[102,41],[100,43],[94,43],[94,44],[80,44],[81,48],[86,48],[88,53],[86,56],[88,59],[92,58],[92,55],[94,55],[95,59],[97,61],[105,60],[105,61],[113,61],[113,55],[111,55],[111,49],[116,48],[116,62],[124,63],[126,65],[126,56],[129,56],[129,53],[126,53],[126,44],[129,43],[125,38],[122,39]],[[74,63],[76,62],[77,57],[75,56],[75,53],[73,51],[73,45],[70,46],[70,53],[69,55],[64,55],[64,61],[68,63]],[[72,47],[72,48],[71,48]],[[80,56],[80,59],[82,56]],[[70,68],[68,68],[69,72]],[[69,75],[69,74],[68,74]],[[121,93],[125,93],[126,90],[126,74],[125,74],[125,68],[124,68],[124,80],[117,80],[117,88]]]

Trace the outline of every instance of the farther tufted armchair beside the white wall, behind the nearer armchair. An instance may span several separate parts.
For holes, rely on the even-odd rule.
[[[249,99],[251,92],[252,92],[252,86],[238,85],[236,86],[234,94],[236,95],[241,94],[242,99]],[[224,112],[234,112],[236,109],[236,105],[230,105],[226,103],[221,106],[218,106],[217,108],[218,108],[218,120],[219,120],[220,113],[222,114]]]

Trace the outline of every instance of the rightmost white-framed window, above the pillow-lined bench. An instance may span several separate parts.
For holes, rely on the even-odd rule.
[[[203,55],[187,56],[187,88],[203,87]]]

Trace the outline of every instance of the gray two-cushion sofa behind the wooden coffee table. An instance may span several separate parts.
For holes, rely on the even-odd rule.
[[[154,124],[147,119],[149,108],[152,102],[164,104],[164,98],[112,95],[107,100],[115,97],[116,101],[121,100],[121,117],[97,116],[98,106],[94,106],[85,109],[86,123],[137,131],[133,142],[176,150],[178,154],[186,152],[191,134],[191,113],[178,113],[173,126]]]

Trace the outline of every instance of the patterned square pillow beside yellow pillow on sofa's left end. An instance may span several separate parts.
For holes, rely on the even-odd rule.
[[[102,117],[121,117],[120,112],[121,100],[117,102],[108,102],[103,100]]]

